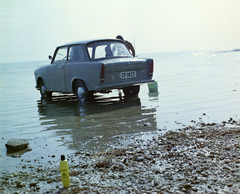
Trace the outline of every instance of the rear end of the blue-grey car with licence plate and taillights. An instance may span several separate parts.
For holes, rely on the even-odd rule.
[[[101,62],[99,89],[123,88],[152,81],[152,59],[108,59]]]

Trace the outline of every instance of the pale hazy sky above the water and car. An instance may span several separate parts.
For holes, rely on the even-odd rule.
[[[0,0],[0,63],[115,38],[136,53],[240,48],[240,0]]]

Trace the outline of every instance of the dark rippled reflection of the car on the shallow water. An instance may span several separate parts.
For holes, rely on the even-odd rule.
[[[106,145],[119,135],[156,130],[156,108],[143,108],[139,97],[96,96],[82,104],[64,95],[38,101],[41,125],[62,137],[68,149],[92,149]],[[67,138],[66,138],[67,137]]]

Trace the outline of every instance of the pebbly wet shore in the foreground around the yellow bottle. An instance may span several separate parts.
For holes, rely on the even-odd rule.
[[[117,139],[105,152],[68,155],[71,187],[62,188],[59,159],[22,160],[0,177],[2,193],[239,193],[240,122],[192,121],[176,131]],[[150,134],[148,134],[150,137]]]

